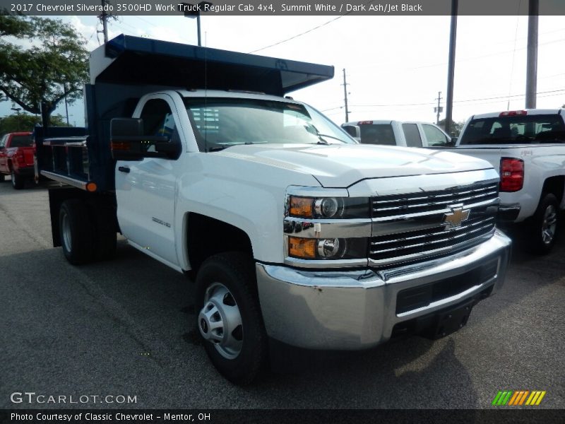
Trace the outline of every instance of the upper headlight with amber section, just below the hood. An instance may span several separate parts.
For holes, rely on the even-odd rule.
[[[311,219],[369,218],[369,199],[289,196],[288,216]]]

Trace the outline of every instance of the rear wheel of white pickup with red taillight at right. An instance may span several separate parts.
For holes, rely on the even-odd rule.
[[[542,194],[534,216],[528,222],[527,249],[535,254],[547,254],[555,244],[558,230],[559,202],[551,193]]]

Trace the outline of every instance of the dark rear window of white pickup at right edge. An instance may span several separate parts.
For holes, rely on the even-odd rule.
[[[460,145],[563,143],[565,128],[558,114],[477,118],[469,122]]]

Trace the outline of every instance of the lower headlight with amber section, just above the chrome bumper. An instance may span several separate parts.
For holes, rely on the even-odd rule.
[[[359,259],[367,257],[367,237],[288,237],[288,256],[298,259]]]

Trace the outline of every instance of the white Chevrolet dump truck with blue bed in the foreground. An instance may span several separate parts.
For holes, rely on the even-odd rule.
[[[129,36],[90,64],[88,130],[36,132],[37,170],[67,187],[49,191],[54,245],[83,264],[119,230],[194,271],[194,324],[231,381],[256,377],[268,337],[347,350],[440,337],[501,287],[496,171],[359,145],[283,97],[333,67]]]

